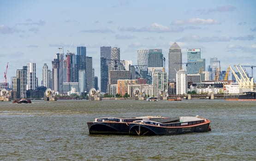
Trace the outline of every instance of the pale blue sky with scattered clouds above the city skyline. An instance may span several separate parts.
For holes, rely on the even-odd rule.
[[[255,0],[0,0],[0,82],[26,63],[42,66],[58,48],[66,53],[86,46],[100,86],[100,46],[120,48],[121,60],[137,64],[137,50],[160,48],[166,57],[177,42],[201,48],[201,58],[228,65],[256,66]],[[246,68],[249,74],[251,69]],[[256,75],[256,68],[254,69]]]

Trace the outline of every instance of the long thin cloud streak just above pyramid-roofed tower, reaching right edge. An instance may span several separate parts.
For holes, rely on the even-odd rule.
[[[185,36],[177,41],[197,41],[197,42],[212,42],[212,41],[230,41],[230,40],[254,40],[253,35],[239,36],[239,37],[228,37],[228,36],[212,36],[212,37],[200,37],[196,35]]]

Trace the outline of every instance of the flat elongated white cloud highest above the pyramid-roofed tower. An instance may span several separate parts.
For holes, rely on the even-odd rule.
[[[188,20],[178,20],[171,23],[172,25],[212,25],[220,24],[220,22],[213,20],[211,18],[202,19],[202,18],[190,18]]]

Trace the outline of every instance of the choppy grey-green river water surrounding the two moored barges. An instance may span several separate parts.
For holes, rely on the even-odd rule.
[[[96,117],[202,116],[212,131],[170,136],[89,135]],[[0,160],[155,161],[256,158],[256,102],[32,100],[0,102]]]

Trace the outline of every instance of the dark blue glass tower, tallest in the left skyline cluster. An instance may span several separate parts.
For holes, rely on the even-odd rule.
[[[85,70],[86,69],[86,47],[85,46],[77,46],[77,57],[78,57],[77,72],[79,70]]]

